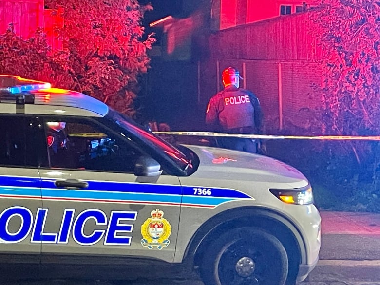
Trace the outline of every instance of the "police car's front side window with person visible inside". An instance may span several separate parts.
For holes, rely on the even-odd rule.
[[[111,130],[84,119],[47,119],[52,168],[132,173],[141,152]]]

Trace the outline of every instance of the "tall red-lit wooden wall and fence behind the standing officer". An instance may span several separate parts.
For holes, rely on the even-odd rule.
[[[311,13],[311,12],[310,12]],[[213,68],[216,80],[201,77],[200,109],[223,88],[221,72],[239,69],[242,87],[260,99],[267,129],[315,127],[320,120],[321,51],[311,37],[309,13],[281,17],[220,31],[210,37],[211,57],[202,69]],[[213,86],[210,86],[212,82]]]

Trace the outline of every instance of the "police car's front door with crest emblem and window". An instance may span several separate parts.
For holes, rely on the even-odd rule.
[[[59,122],[64,122],[59,130],[64,135],[50,131]],[[133,174],[137,159],[154,163],[152,158],[130,137],[94,120],[47,117],[44,125],[50,147],[40,169],[42,256],[173,261],[181,203],[178,177]]]

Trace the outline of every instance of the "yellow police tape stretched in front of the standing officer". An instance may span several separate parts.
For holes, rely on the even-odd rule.
[[[233,133],[211,133],[211,132],[154,132],[155,134],[169,135],[192,135],[192,136],[223,136],[241,137],[251,139],[318,139],[318,140],[380,140],[380,136],[354,136],[354,135],[268,135],[268,134],[233,134]]]

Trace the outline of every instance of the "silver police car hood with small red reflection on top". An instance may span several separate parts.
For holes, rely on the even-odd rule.
[[[277,159],[248,152],[187,145],[200,159],[196,176],[217,175],[220,179],[289,183],[289,187],[305,186],[304,174]],[[215,173],[216,172],[216,173]]]

